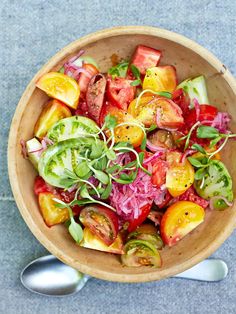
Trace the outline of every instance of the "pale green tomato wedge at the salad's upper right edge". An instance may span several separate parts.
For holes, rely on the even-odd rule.
[[[193,79],[188,78],[180,83],[177,88],[183,88],[183,90],[189,95],[191,107],[194,107],[194,98],[197,99],[199,104],[209,104],[206,81],[203,75]]]

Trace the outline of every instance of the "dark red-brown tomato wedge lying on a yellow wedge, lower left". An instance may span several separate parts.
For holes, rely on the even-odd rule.
[[[106,245],[115,241],[118,234],[118,216],[112,210],[104,206],[89,205],[82,209],[79,219]]]

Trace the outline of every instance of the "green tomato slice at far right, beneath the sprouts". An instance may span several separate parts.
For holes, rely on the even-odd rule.
[[[204,185],[202,188],[201,180],[195,180],[194,187],[199,196],[209,200],[213,196],[225,197],[229,202],[233,201],[232,178],[225,167],[219,160],[211,160],[207,168],[207,174],[204,177]],[[223,201],[216,201],[214,204],[216,209],[225,209],[227,204]]]

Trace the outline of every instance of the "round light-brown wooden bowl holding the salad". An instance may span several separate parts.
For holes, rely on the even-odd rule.
[[[236,131],[236,84],[228,69],[203,47],[181,35],[146,26],[116,27],[85,36],[59,51],[35,75],[27,86],[12,120],[8,167],[12,191],[21,215],[35,237],[64,263],[91,276],[121,282],[160,280],[182,272],[211,255],[231,234],[236,221],[236,206],[225,211],[207,211],[205,222],[176,246],[162,252],[161,269],[122,267],[119,257],[77,246],[64,226],[48,228],[39,212],[33,192],[36,172],[21,155],[20,139],[33,137],[34,124],[47,100],[35,82],[49,71],[57,71],[80,49],[94,57],[106,71],[111,66],[111,55],[128,58],[138,44],[160,49],[161,64],[173,64],[179,81],[204,74],[210,102],[232,116],[231,128]],[[236,141],[231,141],[223,152],[223,161],[236,188]],[[30,254],[30,252],[29,252]]]

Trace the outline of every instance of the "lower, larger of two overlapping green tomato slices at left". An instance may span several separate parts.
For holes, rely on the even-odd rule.
[[[78,178],[75,174],[77,166],[84,161],[85,156],[90,158],[95,143],[104,148],[103,141],[96,139],[95,142],[93,138],[83,137],[61,141],[48,147],[39,160],[40,176],[53,186],[69,188]],[[73,174],[73,178],[66,174],[65,169]]]

